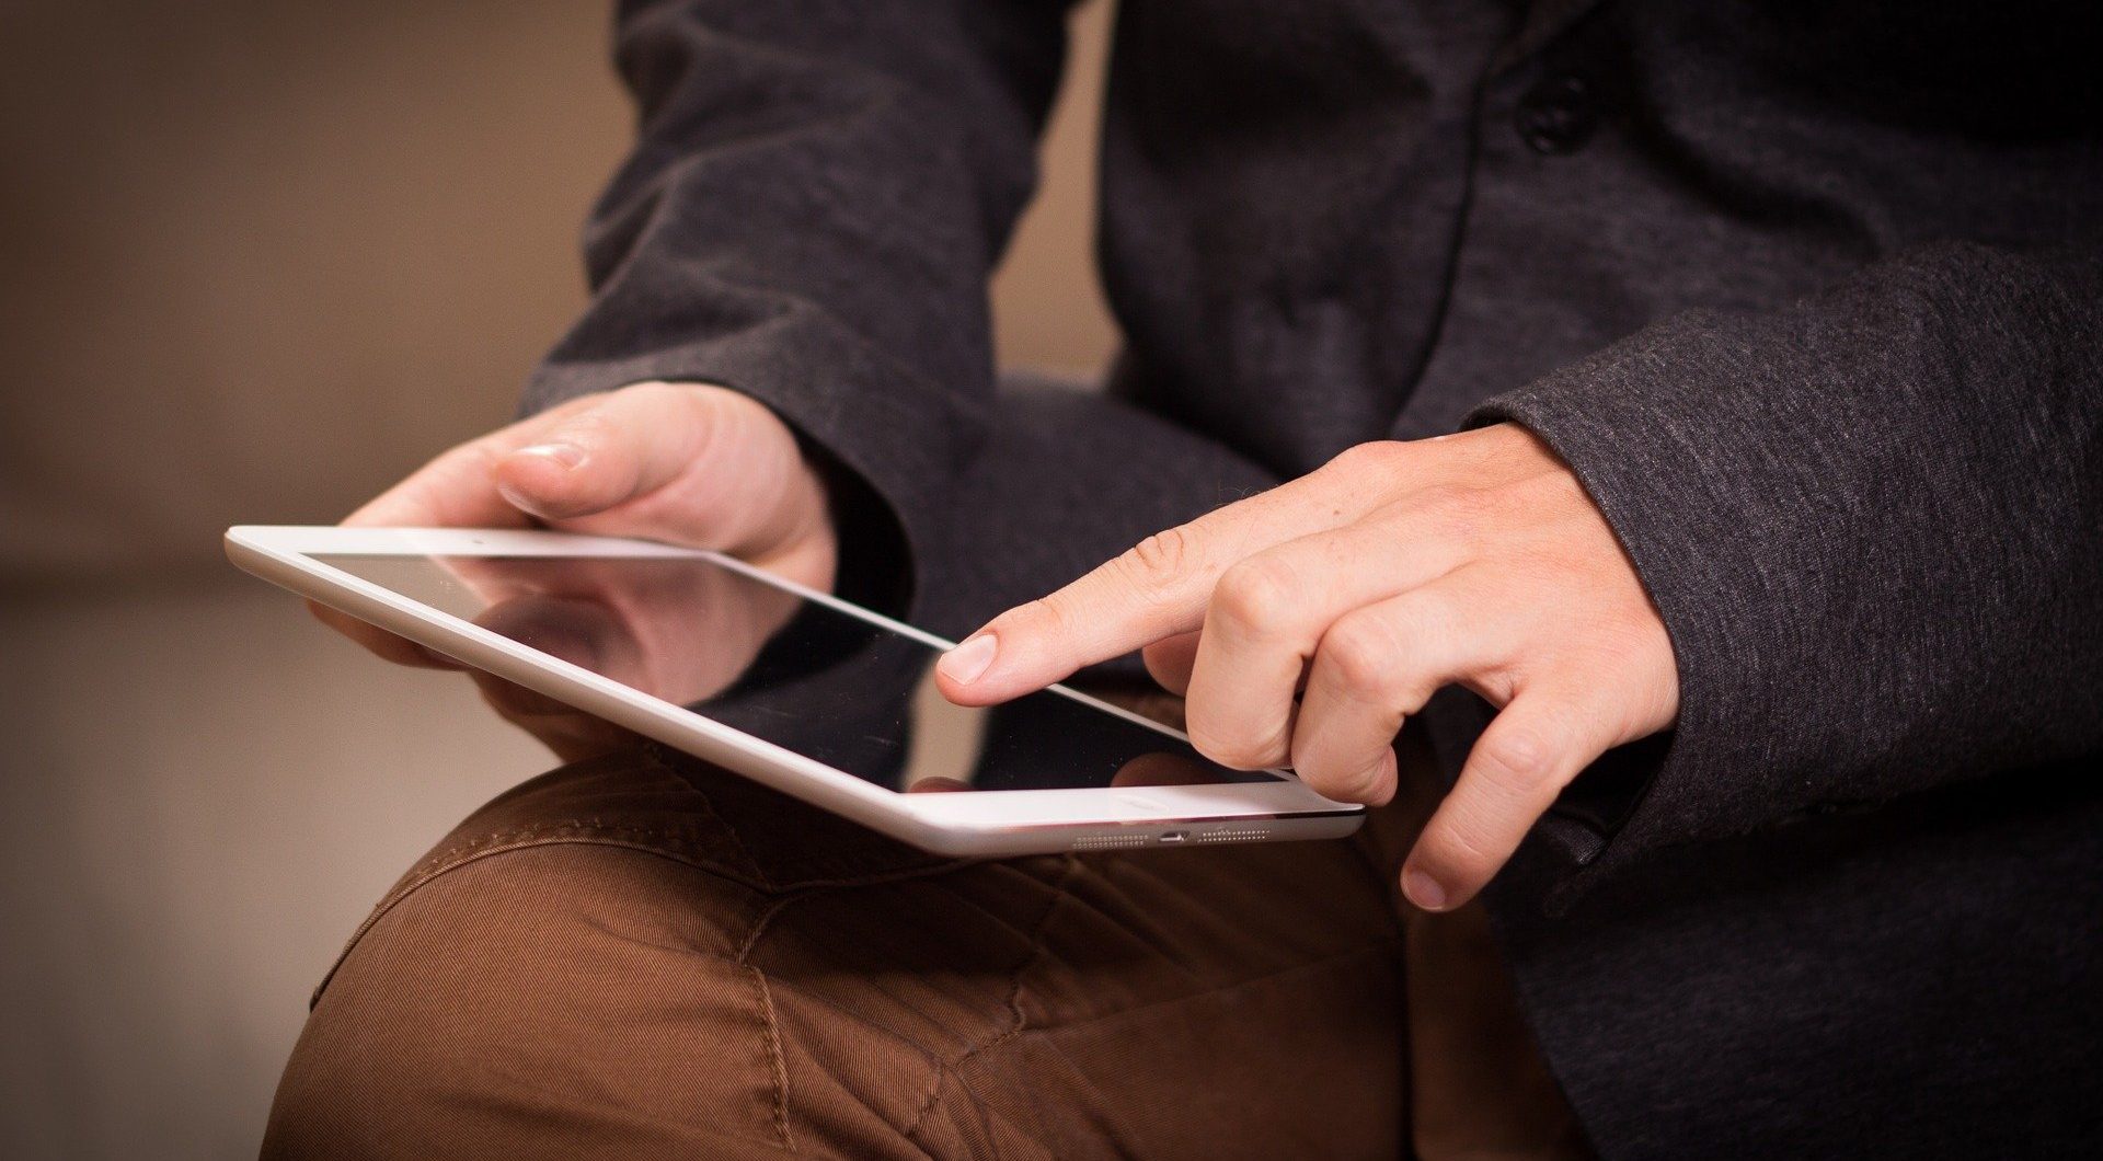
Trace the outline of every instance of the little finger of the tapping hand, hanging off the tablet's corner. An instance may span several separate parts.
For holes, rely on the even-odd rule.
[[[1581,692],[1523,690],[1474,742],[1459,780],[1403,864],[1426,911],[1474,898],[1556,795],[1615,742],[1611,713]]]

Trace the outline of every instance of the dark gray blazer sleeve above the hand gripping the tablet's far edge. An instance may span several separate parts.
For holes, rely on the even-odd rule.
[[[585,229],[591,305],[524,410],[648,379],[732,387],[923,541],[984,433],[986,278],[1035,185],[1064,8],[622,2],[639,135]]]

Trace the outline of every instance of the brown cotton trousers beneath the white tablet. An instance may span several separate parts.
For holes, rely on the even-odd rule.
[[[654,747],[570,766],[351,938],[263,1153],[1584,1155],[1483,915],[1396,907],[1426,797],[965,862]]]

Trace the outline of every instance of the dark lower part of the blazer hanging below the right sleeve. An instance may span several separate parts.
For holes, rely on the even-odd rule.
[[[1493,913],[1607,1157],[2090,1157],[2103,808],[2021,772],[1659,850]]]

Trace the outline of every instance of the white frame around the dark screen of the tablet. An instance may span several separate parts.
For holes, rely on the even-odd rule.
[[[238,526],[227,530],[225,547],[233,564],[294,593],[942,854],[991,856],[1077,848],[1319,839],[1348,835],[1365,818],[1363,806],[1325,799],[1287,772],[1279,772],[1277,782],[1207,787],[946,795],[887,791],[315,559],[315,555],[330,553],[698,557],[915,641],[940,650],[953,646],[934,633],[841,602],[831,593],[795,585],[721,553],[545,530],[332,526]],[[1066,686],[1052,686],[1052,690],[1102,713],[1188,740],[1176,730]]]

